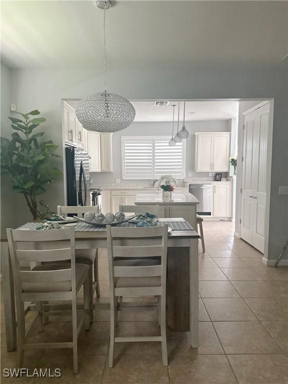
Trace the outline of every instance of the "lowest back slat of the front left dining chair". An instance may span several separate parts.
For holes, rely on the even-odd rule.
[[[50,282],[71,280],[71,268],[57,270],[19,270],[21,282]]]

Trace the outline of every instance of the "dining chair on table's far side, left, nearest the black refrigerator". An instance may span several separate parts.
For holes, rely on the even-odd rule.
[[[94,213],[98,212],[97,205],[85,205],[85,206],[57,206],[57,214],[63,215],[68,213],[74,213],[78,217],[91,210]],[[76,263],[80,262],[89,265],[89,289],[92,292],[96,291],[96,296],[100,296],[100,286],[98,277],[98,249],[75,249]],[[93,268],[94,267],[94,268]]]

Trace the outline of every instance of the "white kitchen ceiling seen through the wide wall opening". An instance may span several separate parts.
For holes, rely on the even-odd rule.
[[[76,108],[79,100],[66,100]],[[178,117],[178,101],[169,100],[167,106],[155,106],[154,101],[131,101],[136,115],[134,121],[171,121],[172,104],[175,106],[175,120]],[[194,112],[190,114],[189,112]],[[180,101],[180,121],[183,119],[183,101]],[[185,120],[227,120],[238,117],[238,101],[186,101]]]

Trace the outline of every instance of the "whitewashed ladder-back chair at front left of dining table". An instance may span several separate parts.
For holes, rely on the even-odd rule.
[[[77,335],[82,327],[90,328],[90,298],[87,264],[75,263],[74,228],[51,230],[6,230],[13,272],[16,316],[17,351],[16,366],[23,365],[24,350],[31,348],[73,348],[73,372],[78,372]],[[32,270],[21,270],[20,262],[41,261],[69,263],[39,264]],[[84,293],[84,313],[77,326],[76,297],[81,287]],[[69,300],[72,314],[72,341],[31,343],[26,342],[24,302],[35,302],[36,316],[39,319],[39,331],[42,331],[43,317],[49,315],[43,311],[43,302]],[[53,312],[55,314],[55,312]],[[61,314],[61,312],[59,312]],[[34,321],[32,322],[32,324]],[[32,325],[31,324],[31,325]],[[30,326],[31,327],[31,326]],[[30,328],[29,328],[30,329]]]

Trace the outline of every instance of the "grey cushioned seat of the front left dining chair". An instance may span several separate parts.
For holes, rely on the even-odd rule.
[[[71,264],[41,264],[36,265],[32,270],[58,270],[69,269]],[[86,264],[75,264],[76,290],[84,282],[89,266]],[[71,281],[44,281],[44,282],[23,282],[23,292],[69,292]]]

